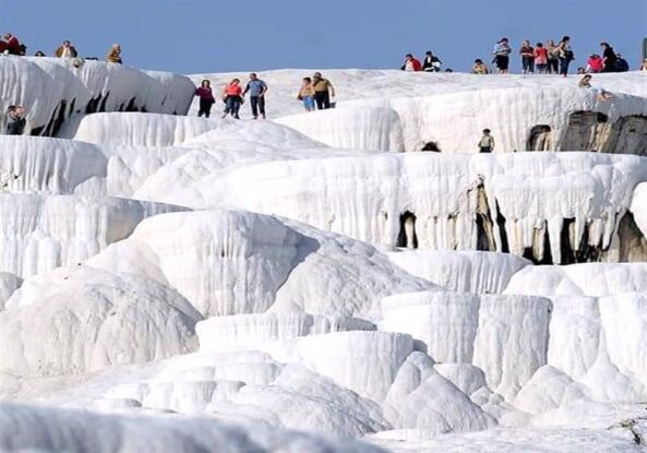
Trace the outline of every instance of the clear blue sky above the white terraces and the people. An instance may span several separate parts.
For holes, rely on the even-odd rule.
[[[103,57],[120,43],[127,64],[181,73],[398,68],[428,49],[466,71],[502,36],[516,48],[565,34],[577,64],[608,40],[635,68],[647,0],[0,0],[0,29],[29,53],[69,38]]]

